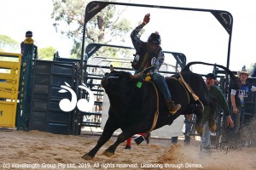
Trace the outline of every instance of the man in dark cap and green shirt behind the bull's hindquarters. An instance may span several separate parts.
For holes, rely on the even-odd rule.
[[[212,96],[212,98],[215,98],[218,100],[218,105],[220,105],[224,111],[224,115],[227,116],[227,123],[230,125],[230,127],[234,127],[234,122],[231,119],[230,116],[230,109],[229,105],[224,97],[223,92],[221,89],[218,88],[218,86],[214,85],[214,82],[216,80],[216,77],[214,74],[209,73],[207,74],[207,89],[209,91],[209,94]],[[202,123],[203,123],[203,133],[201,136],[201,147],[203,148],[211,148],[211,130],[208,126],[208,120],[210,116],[210,107],[206,106],[204,110],[204,114],[202,117]]]

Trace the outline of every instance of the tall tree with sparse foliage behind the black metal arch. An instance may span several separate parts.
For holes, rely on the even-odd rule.
[[[71,54],[75,54],[77,58],[80,58],[81,54],[84,11],[87,3],[90,3],[90,1],[53,0],[54,8],[51,17],[55,20],[55,29],[73,40]],[[131,31],[131,24],[129,20],[120,20],[121,14],[122,11],[117,11],[114,5],[108,5],[103,8],[99,14],[96,14],[87,23],[85,31],[86,43],[108,43],[113,40],[124,42],[124,35]],[[104,52],[106,51],[99,51],[98,53],[103,54]]]

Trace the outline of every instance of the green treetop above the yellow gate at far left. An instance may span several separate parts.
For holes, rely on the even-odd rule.
[[[0,51],[9,53],[19,53],[19,42],[9,36],[0,35]]]

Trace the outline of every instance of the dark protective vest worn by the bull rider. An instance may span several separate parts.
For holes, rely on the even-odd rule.
[[[147,44],[143,43],[143,47],[139,52],[137,52],[134,56],[134,59],[131,63],[131,66],[134,70],[143,71],[145,68],[149,66],[153,66],[156,59],[158,59],[160,55],[161,48],[159,48],[155,52],[148,52]]]

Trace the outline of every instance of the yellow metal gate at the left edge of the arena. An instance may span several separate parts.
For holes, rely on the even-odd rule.
[[[0,53],[0,127],[15,127],[21,54]]]

